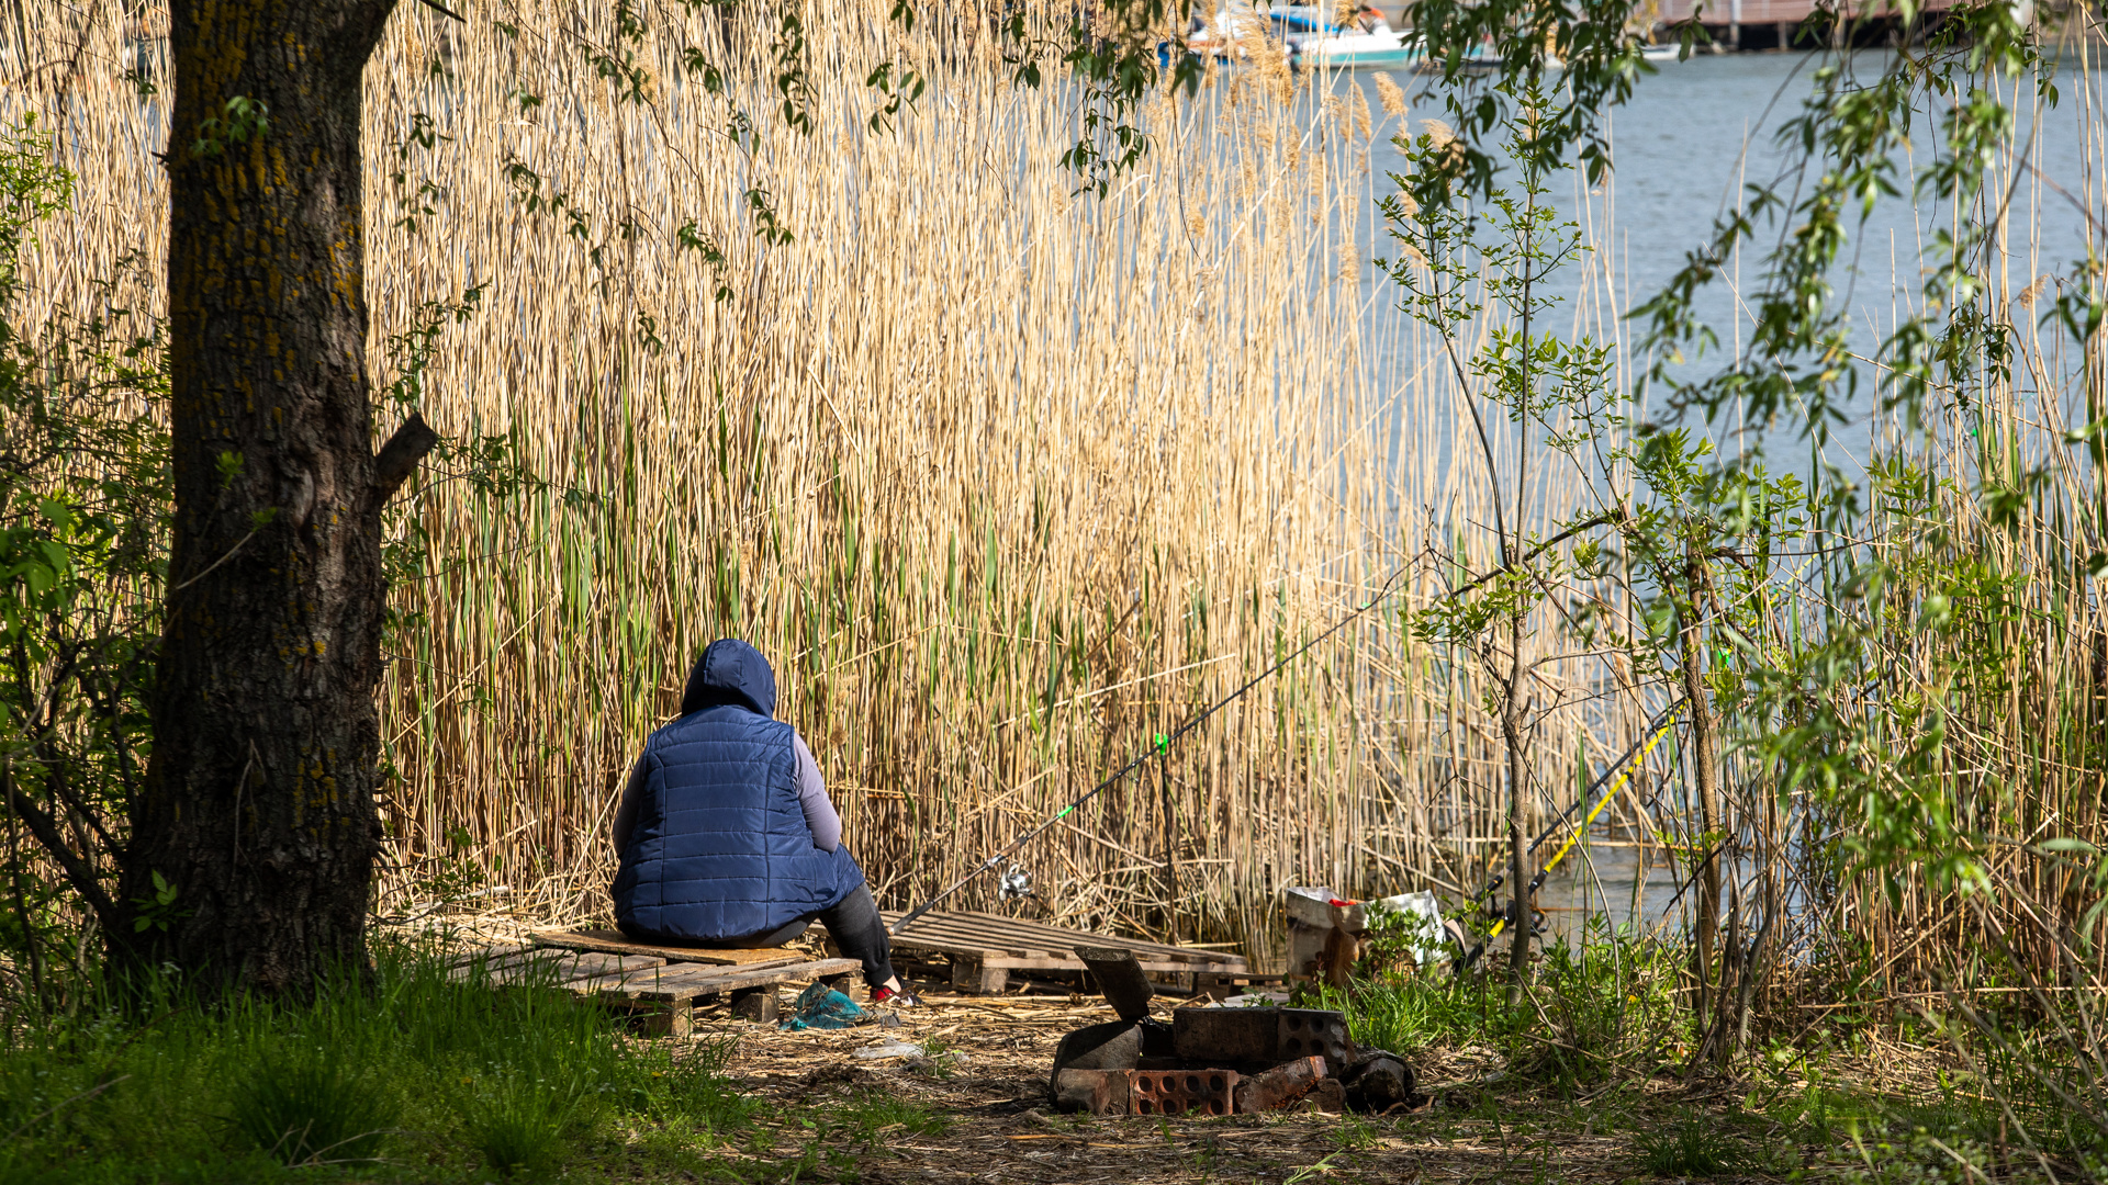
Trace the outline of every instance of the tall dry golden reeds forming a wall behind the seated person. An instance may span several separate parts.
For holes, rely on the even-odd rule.
[[[1429,346],[1364,283],[1368,145],[1398,112],[1280,63],[1210,76],[1145,105],[1153,148],[1098,198],[1060,167],[1073,89],[1016,86],[968,8],[913,34],[877,2],[814,13],[809,135],[774,116],[767,30],[647,4],[630,44],[613,4],[462,11],[401,8],[367,70],[373,367],[394,380],[388,337],[485,285],[422,407],[546,485],[409,493],[388,902],[468,862],[538,915],[605,913],[620,778],[700,647],[738,635],[776,660],[881,900],[909,905],[1393,571],[1391,601],[1024,852],[1037,900],[1006,909],[1263,938],[1286,883],[1476,875],[1497,732],[1478,671],[1402,614],[1455,578],[1431,542],[1492,555],[1488,485],[1459,392],[1395,365]],[[27,61],[76,63],[8,93],[82,175],[32,264],[63,304],[164,249],[169,80],[162,42],[126,36],[152,17],[25,23]],[[645,101],[594,67],[609,46]],[[881,59],[928,78],[890,131],[866,122]],[[748,190],[790,240],[757,234]],[[1638,706],[1583,713],[1594,660],[1545,658],[1549,801]]]

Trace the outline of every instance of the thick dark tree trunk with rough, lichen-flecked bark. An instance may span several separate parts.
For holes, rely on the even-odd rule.
[[[392,6],[173,6],[175,529],[118,964],[301,993],[365,957],[379,514],[432,445],[371,451],[358,118]]]

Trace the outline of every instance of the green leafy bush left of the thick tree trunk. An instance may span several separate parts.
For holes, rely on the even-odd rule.
[[[72,835],[84,883],[95,873],[82,869],[116,862],[150,755],[175,500],[169,432],[141,413],[169,396],[167,333],[126,308],[152,283],[143,261],[122,259],[89,308],[44,316],[25,299],[38,293],[19,255],[72,200],[63,158],[34,114],[0,124],[0,763],[13,799],[0,959],[8,993],[38,1010],[93,991],[101,936],[82,886],[32,837]],[[175,886],[156,888],[141,930],[188,909]]]

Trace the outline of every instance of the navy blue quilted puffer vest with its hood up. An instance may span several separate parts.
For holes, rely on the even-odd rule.
[[[847,846],[822,852],[799,805],[795,732],[769,719],[776,673],[715,641],[681,719],[645,742],[645,797],[616,873],[616,921],[645,940],[727,943],[839,905],[864,883]]]

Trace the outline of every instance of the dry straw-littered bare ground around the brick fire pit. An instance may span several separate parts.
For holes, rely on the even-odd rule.
[[[1111,1008],[1081,997],[944,991],[925,991],[923,1002],[898,1014],[898,1029],[784,1033],[734,1021],[723,1008],[698,1016],[691,1040],[734,1042],[727,1073],[776,1103],[780,1115],[767,1137],[727,1155],[746,1162],[744,1174],[774,1174],[774,1162],[780,1179],[862,1183],[1651,1181],[1634,1134],[1697,1115],[1710,1130],[1733,1134],[1745,1158],[1716,1181],[1781,1181],[1807,1168],[1811,1177],[1834,1174],[1821,1149],[1800,1147],[1781,1124],[1743,1113],[1743,1088],[1621,1082],[1560,1101],[1501,1077],[1490,1052],[1419,1054],[1414,1069],[1436,1101],[1412,1115],[1056,1115],[1046,1105],[1056,1042],[1069,1029],[1109,1021]],[[896,1037],[936,1042],[963,1061],[915,1067],[856,1056]],[[911,1103],[940,1118],[942,1130],[894,1126],[854,1149],[839,1134],[816,1134],[873,1099]],[[835,1158],[816,1155],[816,1141]]]

